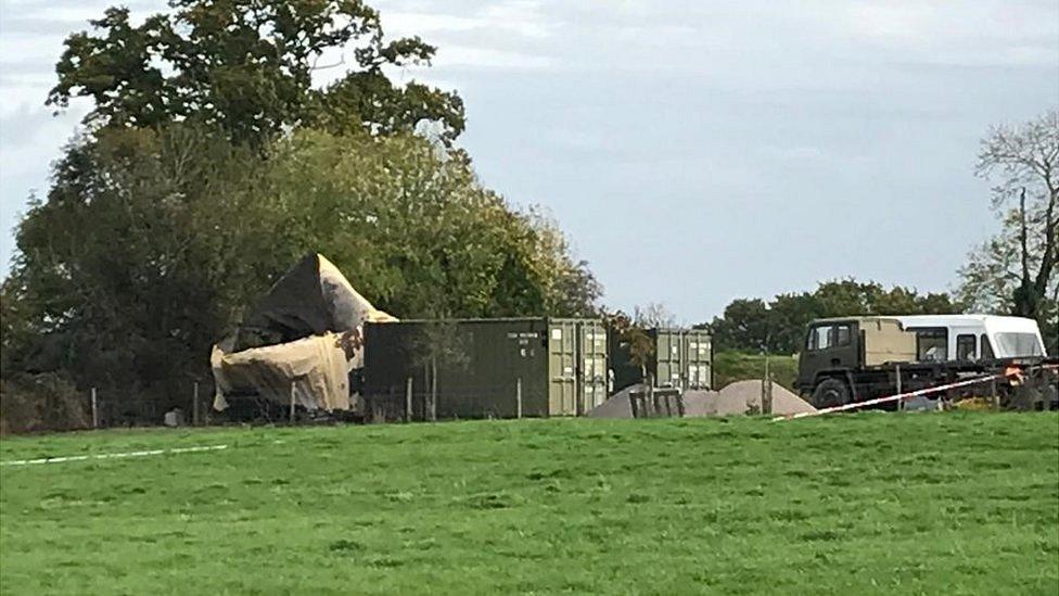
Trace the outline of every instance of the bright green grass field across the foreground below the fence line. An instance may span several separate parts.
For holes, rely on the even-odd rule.
[[[1059,416],[0,441],[3,594],[1059,591]]]

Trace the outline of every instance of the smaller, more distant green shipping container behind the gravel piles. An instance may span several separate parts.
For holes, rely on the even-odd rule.
[[[680,390],[713,389],[713,342],[704,329],[648,329],[652,354],[646,372],[658,386]],[[629,346],[617,333],[608,343],[610,365],[614,372],[612,392],[643,381],[643,370],[634,363]]]

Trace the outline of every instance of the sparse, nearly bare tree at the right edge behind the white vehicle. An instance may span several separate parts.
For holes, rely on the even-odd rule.
[[[991,129],[975,173],[993,183],[1001,231],[968,256],[960,295],[978,308],[1036,318],[1054,337],[1059,333],[1059,110]]]

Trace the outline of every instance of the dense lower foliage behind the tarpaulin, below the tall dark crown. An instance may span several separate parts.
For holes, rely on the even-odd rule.
[[[411,135],[302,130],[250,148],[190,123],[100,130],[67,149],[17,245],[4,378],[62,370],[160,408],[187,406],[209,345],[308,252],[401,317],[564,316],[598,295],[570,292],[577,265],[556,227]]]

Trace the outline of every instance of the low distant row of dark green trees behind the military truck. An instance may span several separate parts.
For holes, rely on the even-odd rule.
[[[718,350],[793,354],[805,339],[805,326],[824,317],[857,315],[927,315],[959,313],[961,305],[946,294],[920,294],[873,281],[843,279],[821,282],[813,292],[762,299],[737,299],[724,315],[704,326]],[[703,327],[703,326],[700,326]]]

